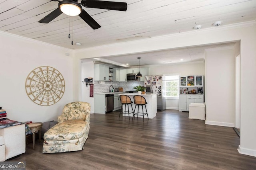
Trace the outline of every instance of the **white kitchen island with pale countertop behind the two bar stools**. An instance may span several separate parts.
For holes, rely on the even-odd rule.
[[[146,94],[125,93],[125,94],[119,94],[119,95],[127,95],[127,96],[129,96],[131,98],[132,102],[133,102],[132,103],[132,108],[133,109],[135,108],[133,96],[135,96],[135,95],[143,96],[146,99],[146,102],[148,103],[148,104],[146,104],[147,111],[148,111],[148,118],[149,119],[153,119],[154,117],[156,117],[156,94],[153,94],[153,93],[146,93]],[[138,106],[136,107],[136,111],[135,112],[138,111],[137,109],[138,109]],[[124,111],[124,107],[123,107],[123,111]],[[127,107],[126,107],[126,111],[128,111]],[[139,112],[142,112],[142,107],[140,107]],[[146,112],[145,107],[144,107],[144,112]],[[130,115],[133,115],[133,114],[130,114]],[[123,114],[123,116],[124,116],[124,114]],[[126,114],[126,116],[128,116],[128,115]],[[139,115],[138,117],[143,117],[143,116]],[[147,118],[147,116],[144,115],[144,118]]]

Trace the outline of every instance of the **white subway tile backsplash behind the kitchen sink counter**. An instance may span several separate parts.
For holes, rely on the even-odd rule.
[[[101,81],[102,82],[102,81]],[[94,93],[107,93],[109,92],[109,86],[114,88],[122,87],[123,91],[135,90],[135,86],[144,86],[144,82],[104,82],[100,84],[100,81],[94,81]]]

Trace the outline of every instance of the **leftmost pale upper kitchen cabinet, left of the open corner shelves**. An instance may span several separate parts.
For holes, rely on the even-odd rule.
[[[94,64],[94,81],[108,81],[108,66]]]

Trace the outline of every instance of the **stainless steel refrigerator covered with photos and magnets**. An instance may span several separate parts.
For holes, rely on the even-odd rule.
[[[145,76],[144,86],[147,88],[146,92],[156,94],[156,102],[158,110],[165,110],[165,98],[162,95],[162,75]]]

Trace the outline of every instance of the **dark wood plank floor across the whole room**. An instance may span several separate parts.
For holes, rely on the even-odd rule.
[[[205,125],[188,112],[158,111],[154,119],[128,119],[118,112],[91,114],[84,150],[43,154],[42,142],[11,161],[26,170],[255,170],[256,158],[239,154],[232,127]]]

